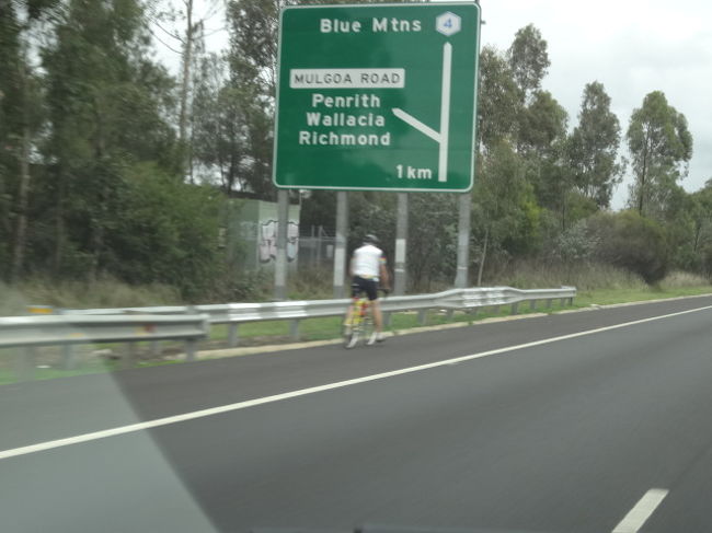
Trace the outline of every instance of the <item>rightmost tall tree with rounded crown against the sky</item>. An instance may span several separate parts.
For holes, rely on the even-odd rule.
[[[687,119],[668,105],[663,92],[654,91],[633,111],[625,137],[635,178],[630,204],[640,215],[658,217],[692,158]]]

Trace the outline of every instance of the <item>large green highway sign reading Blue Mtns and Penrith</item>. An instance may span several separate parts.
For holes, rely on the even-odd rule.
[[[289,7],[279,25],[274,182],[466,192],[480,7]]]

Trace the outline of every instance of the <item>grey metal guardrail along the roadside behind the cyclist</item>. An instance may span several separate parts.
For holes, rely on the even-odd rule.
[[[510,305],[512,313],[519,312],[521,302],[531,310],[539,302],[551,306],[560,300],[562,306],[572,303],[575,287],[559,289],[520,290],[510,287],[451,289],[434,294],[388,297],[381,300],[387,323],[392,313],[416,311],[421,324],[427,321],[428,310],[498,309]],[[127,343],[124,367],[135,359],[136,343],[151,341],[152,351],[159,340],[185,341],[186,359],[195,358],[197,340],[207,336],[210,325],[229,326],[228,344],[239,344],[240,324],[262,321],[290,321],[292,338],[299,337],[299,322],[305,318],[343,315],[349,299],[305,300],[265,303],[226,303],[215,305],[152,306],[120,309],[54,310],[57,314],[37,316],[0,317],[0,349],[22,348],[18,351],[16,368],[27,379],[34,372],[36,348],[59,346],[65,368],[74,367],[73,345]],[[44,309],[50,309],[42,306]]]

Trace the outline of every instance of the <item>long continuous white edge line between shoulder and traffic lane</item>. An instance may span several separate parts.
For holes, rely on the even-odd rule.
[[[353,380],[338,381],[336,383],[329,383],[326,385],[312,386],[309,389],[301,389],[299,391],[291,391],[283,394],[275,394],[273,396],[265,396],[262,398],[249,399],[246,402],[238,402],[236,404],[221,405],[219,407],[211,407],[209,409],[200,409],[192,413],[184,413],[183,415],[175,415],[165,418],[159,418],[156,420],[149,420],[146,422],[131,424],[129,426],[122,426],[113,429],[105,429],[102,431],[94,431],[91,433],[78,434],[76,437],[68,437],[66,439],[50,440],[46,442],[39,442],[37,444],[31,444],[22,448],[14,448],[11,450],[0,451],[0,460],[16,457],[19,455],[26,455],[28,453],[43,452],[46,450],[51,450],[54,448],[68,447],[71,444],[79,444],[82,442],[89,442],[99,439],[105,439],[107,437],[116,437],[119,434],[133,433],[135,431],[142,431],[146,429],[158,428],[161,426],[169,426],[171,424],[184,422],[187,420],[194,420],[196,418],[203,418],[206,416],[220,415],[222,413],[229,413],[231,410],[246,409],[248,407],[255,407],[257,405],[271,404],[273,402],[279,402],[283,399],[296,398],[299,396],[306,396],[308,394],[314,394],[324,391],[332,391],[334,389],[342,389],[344,386],[356,385],[359,383],[367,383],[369,381],[384,380],[387,378],[393,378],[397,375],[410,374],[413,372],[420,372],[422,370],[428,370],[437,367],[444,367],[448,364],[457,364],[464,361],[471,361],[473,359],[480,359],[482,357],[496,356],[499,354],[506,354],[508,351],[521,350],[525,348],[532,348],[535,346],[541,346],[552,343],[558,343],[560,340],[569,340],[572,338],[584,337],[586,335],[595,335],[597,333],[610,332],[612,329],[620,329],[621,327],[630,327],[638,324],[645,324],[646,322],[654,322],[664,318],[670,318],[673,316],[680,316],[684,314],[696,313],[698,311],[707,311],[712,309],[712,305],[707,305],[704,308],[691,309],[688,311],[679,311],[677,313],[669,313],[659,316],[652,316],[650,318],[642,318],[633,322],[625,322],[623,324],[616,324],[612,326],[598,327],[596,329],[587,329],[585,332],[572,333],[569,335],[562,335],[560,337],[551,337],[542,340],[535,340],[532,343],[526,343],[516,346],[507,346],[505,348],[497,348],[494,350],[482,351],[480,354],[472,354],[470,356],[456,357],[453,359],[447,359],[444,361],[430,362],[427,364],[421,364],[417,367],[410,367],[401,370],[392,370],[390,372],[383,372],[380,374],[366,375],[364,378],[356,378]]]

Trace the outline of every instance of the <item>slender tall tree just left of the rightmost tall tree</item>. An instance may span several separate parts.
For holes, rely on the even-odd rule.
[[[620,125],[610,111],[610,96],[602,83],[588,83],[567,159],[576,188],[599,208],[610,205],[613,187],[621,181],[622,166],[616,162],[619,143]]]

